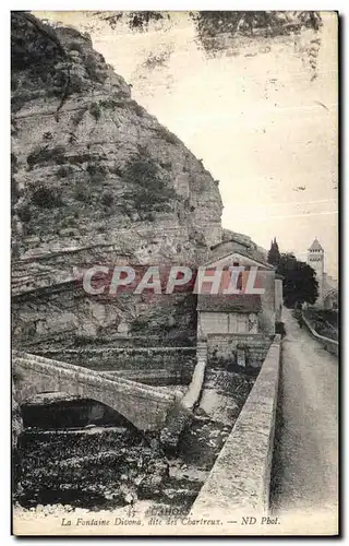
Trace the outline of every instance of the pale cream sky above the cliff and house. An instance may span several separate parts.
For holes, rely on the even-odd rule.
[[[224,227],[301,259],[316,236],[337,276],[337,20],[323,13],[317,79],[302,49],[314,37],[256,40],[207,59],[185,13],[169,32],[111,29],[88,12],[39,12],[92,35],[132,96],[220,181]],[[269,50],[266,52],[266,48]],[[149,56],[163,56],[154,69]],[[304,57],[304,55],[303,55]],[[321,103],[321,104],[320,104]],[[297,189],[299,187],[304,190]]]

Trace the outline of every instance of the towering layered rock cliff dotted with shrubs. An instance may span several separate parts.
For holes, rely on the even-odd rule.
[[[221,240],[216,182],[132,99],[87,35],[20,12],[12,15],[11,181],[15,340],[96,337],[134,321],[146,328],[152,317],[156,331],[192,323],[193,314],[181,318],[183,297],[166,301],[163,318],[161,304],[87,297],[73,268],[204,260]]]

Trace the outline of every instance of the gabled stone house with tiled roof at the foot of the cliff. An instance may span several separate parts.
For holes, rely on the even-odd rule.
[[[212,271],[222,270],[229,275],[231,266],[243,268],[244,271],[239,276],[240,285],[237,284],[239,294],[225,294],[227,284],[221,281],[218,294],[210,295],[209,290],[208,294],[205,290],[197,296],[198,336],[275,333],[275,322],[281,320],[282,278],[276,278],[274,266],[267,262],[266,251],[250,237],[225,230],[222,242],[212,247],[205,266]],[[252,273],[255,275],[254,293],[246,292],[243,281]]]

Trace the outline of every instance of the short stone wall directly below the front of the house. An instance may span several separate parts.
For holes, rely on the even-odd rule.
[[[237,364],[237,349],[245,349],[246,365],[260,368],[273,336],[264,334],[212,334],[207,336],[208,361]]]

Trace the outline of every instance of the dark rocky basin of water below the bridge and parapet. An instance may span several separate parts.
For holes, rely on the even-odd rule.
[[[244,371],[207,370],[201,403],[172,456],[164,453],[157,434],[140,432],[110,412],[101,414],[92,401],[81,401],[80,410],[79,401],[64,406],[56,400],[52,406],[47,399],[41,406],[37,401],[24,407],[29,426],[19,441],[16,510],[45,517],[56,511],[134,510],[149,502],[188,513],[254,379]],[[179,385],[164,389],[173,388]],[[52,414],[55,428],[47,417]]]

